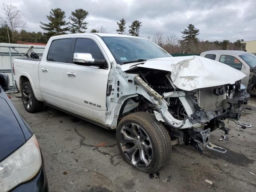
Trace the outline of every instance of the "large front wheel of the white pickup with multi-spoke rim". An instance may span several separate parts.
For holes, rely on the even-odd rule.
[[[132,128],[130,128],[130,126],[132,126]],[[142,140],[140,143],[137,142],[138,137],[135,137],[135,142],[133,139],[131,139],[133,138],[134,130],[135,132],[137,130],[136,127],[140,127],[137,131],[140,136],[140,140]],[[129,136],[129,138],[126,137],[126,134]],[[135,133],[135,135],[137,134]],[[148,138],[149,141],[148,139],[144,138]],[[143,139],[144,144],[146,144],[147,147],[144,146]],[[131,166],[146,173],[158,172],[166,165],[172,152],[172,145],[168,131],[161,122],[156,120],[153,114],[148,112],[136,112],[122,118],[116,130],[116,140],[122,158]],[[148,147],[150,146],[150,143],[152,150]],[[142,146],[141,148],[138,147],[140,144]],[[137,154],[137,152],[135,153],[134,148],[139,148],[139,154]],[[134,152],[132,152],[132,150],[134,150]],[[140,153],[142,150],[144,150],[144,158],[142,158],[143,161],[140,160]],[[132,158],[136,160],[136,156],[138,156],[137,162],[132,160]],[[144,159],[146,159],[148,165],[144,163]]]

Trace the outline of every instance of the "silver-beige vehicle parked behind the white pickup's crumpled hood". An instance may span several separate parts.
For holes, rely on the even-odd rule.
[[[202,52],[200,56],[227,64],[243,72],[246,77],[241,80],[250,94],[256,94],[256,56],[245,51],[212,50]]]

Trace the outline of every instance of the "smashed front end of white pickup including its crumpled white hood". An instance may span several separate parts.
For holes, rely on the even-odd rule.
[[[242,124],[237,122],[241,105],[250,95],[241,88],[245,75],[230,66],[186,56],[123,65],[122,70],[134,74],[135,111],[154,113],[166,125],[172,144],[191,145],[203,153],[211,132],[220,128],[228,133],[225,119]]]

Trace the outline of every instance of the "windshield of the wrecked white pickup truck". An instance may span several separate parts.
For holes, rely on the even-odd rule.
[[[132,37],[101,37],[118,64],[171,57],[153,42]]]

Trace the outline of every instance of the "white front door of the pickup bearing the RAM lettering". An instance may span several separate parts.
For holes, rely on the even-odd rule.
[[[73,53],[88,53],[94,59],[108,62],[108,68],[67,64],[64,78],[67,108],[75,114],[104,124],[110,62],[100,44],[92,38],[77,38]]]

